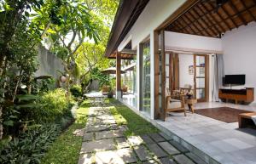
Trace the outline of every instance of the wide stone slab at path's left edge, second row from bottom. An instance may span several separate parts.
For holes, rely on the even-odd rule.
[[[102,150],[113,150],[115,149],[115,144],[113,139],[102,139],[90,142],[83,142],[80,154],[90,153],[93,151]]]

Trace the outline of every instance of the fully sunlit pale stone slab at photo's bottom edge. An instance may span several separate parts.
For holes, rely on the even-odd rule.
[[[97,164],[125,164],[125,161],[113,150],[96,152],[95,156]]]

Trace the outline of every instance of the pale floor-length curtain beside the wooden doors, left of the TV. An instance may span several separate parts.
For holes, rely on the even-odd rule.
[[[223,54],[213,55],[213,90],[212,90],[212,100],[219,101],[218,99],[218,89],[223,86],[224,78],[224,58]]]

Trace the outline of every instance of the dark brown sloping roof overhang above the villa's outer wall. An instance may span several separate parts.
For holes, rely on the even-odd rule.
[[[113,27],[109,34],[108,45],[105,56],[113,58],[114,52],[117,50],[120,42],[125,38],[131,30],[132,25],[136,22],[149,0],[120,0],[117,14],[113,21]],[[124,55],[131,58],[133,54]],[[133,57],[132,57],[133,59]]]

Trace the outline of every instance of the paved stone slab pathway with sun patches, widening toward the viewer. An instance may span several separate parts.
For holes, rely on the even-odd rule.
[[[108,107],[91,107],[80,150],[79,164],[162,163],[195,164],[203,161],[165,133],[125,137]]]

